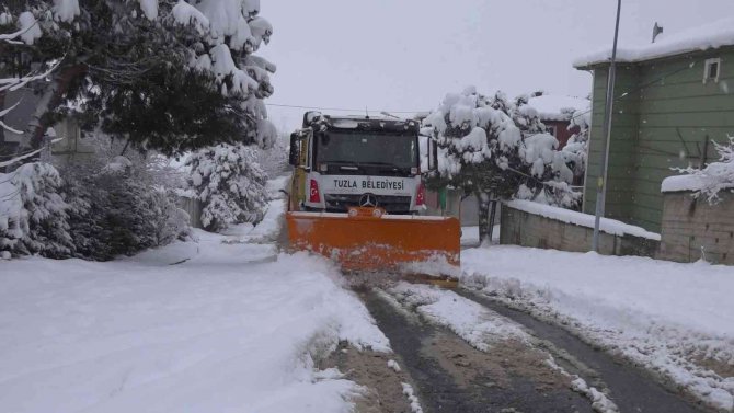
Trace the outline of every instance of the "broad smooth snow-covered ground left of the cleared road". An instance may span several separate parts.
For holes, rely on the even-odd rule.
[[[257,227],[197,236],[111,263],[0,263],[2,411],[346,411],[358,389],[314,360],[339,340],[389,347],[335,268]]]

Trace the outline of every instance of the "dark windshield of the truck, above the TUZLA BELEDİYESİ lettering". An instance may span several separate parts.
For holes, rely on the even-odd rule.
[[[317,162],[417,167],[415,136],[329,133],[317,139]]]

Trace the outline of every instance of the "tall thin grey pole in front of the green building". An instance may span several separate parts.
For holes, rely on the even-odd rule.
[[[594,219],[594,240],[592,249],[599,252],[599,225],[604,217],[605,204],[607,202],[607,169],[609,167],[609,142],[611,141],[611,115],[615,104],[615,78],[617,76],[617,39],[619,38],[619,15],[622,11],[622,0],[617,0],[617,22],[615,24],[615,44],[611,48],[611,61],[607,82],[607,100],[604,113],[604,136],[606,138],[605,149],[601,153],[601,174],[596,181],[596,217]]]

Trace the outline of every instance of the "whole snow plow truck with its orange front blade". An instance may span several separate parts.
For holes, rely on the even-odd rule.
[[[423,173],[437,159],[427,145],[427,171],[421,170],[418,135],[411,119],[306,113],[290,136],[290,248],[324,255],[347,273],[455,283],[460,223],[425,215]]]

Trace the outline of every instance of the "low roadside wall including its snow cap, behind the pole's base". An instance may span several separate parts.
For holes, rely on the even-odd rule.
[[[600,229],[599,253],[655,256],[660,234],[608,218]],[[513,200],[502,208],[502,244],[587,252],[593,237],[593,215],[529,200]]]

